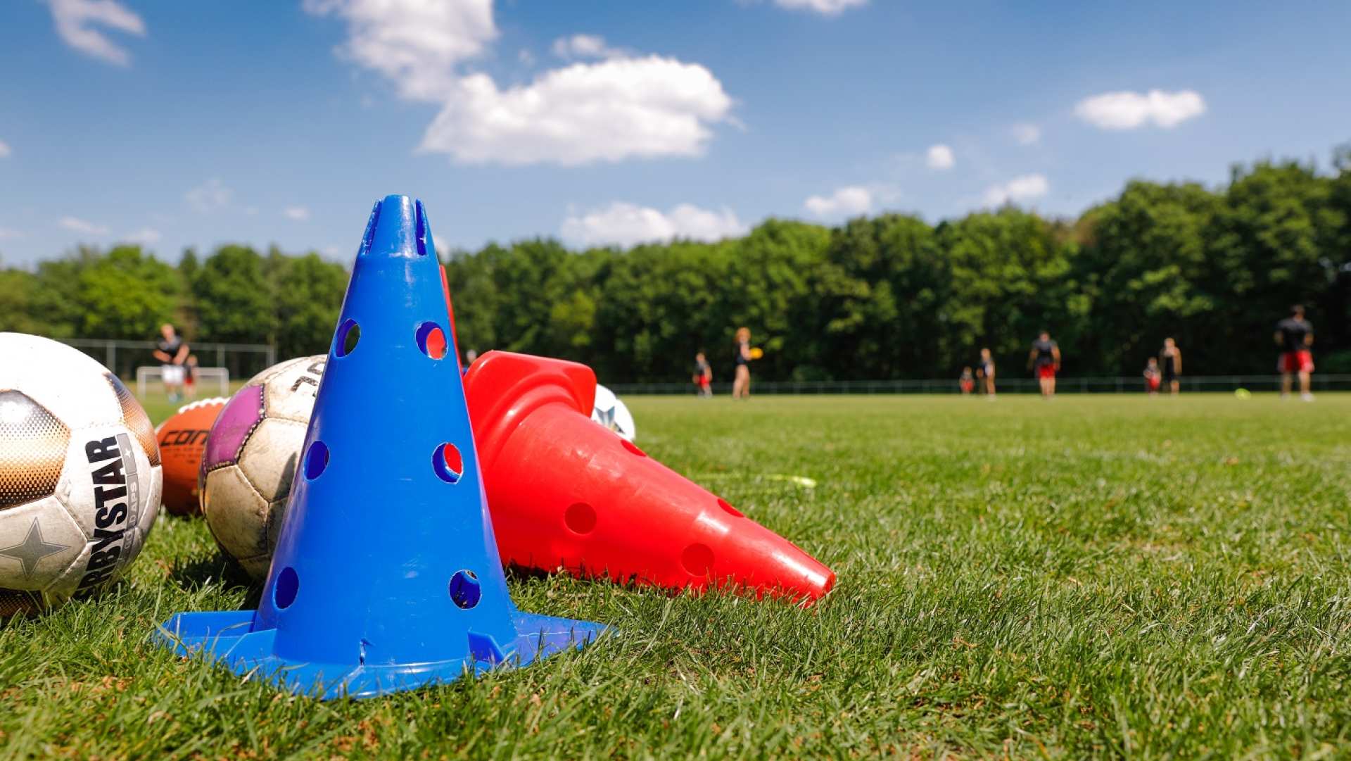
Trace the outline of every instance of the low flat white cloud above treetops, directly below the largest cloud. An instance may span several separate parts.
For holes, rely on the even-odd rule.
[[[615,201],[563,220],[562,237],[594,245],[632,246],[671,238],[719,241],[746,232],[746,226],[728,208],[712,211],[693,204],[680,204],[669,212],[651,207]]]

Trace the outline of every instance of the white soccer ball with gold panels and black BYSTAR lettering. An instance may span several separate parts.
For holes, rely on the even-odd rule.
[[[0,618],[122,576],[159,511],[159,446],[118,376],[0,333]]]

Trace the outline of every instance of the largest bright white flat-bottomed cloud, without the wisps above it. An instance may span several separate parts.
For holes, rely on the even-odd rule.
[[[731,107],[708,69],[657,55],[573,64],[505,91],[470,74],[427,127],[422,150],[465,164],[566,166],[701,155],[709,124],[727,120]]]

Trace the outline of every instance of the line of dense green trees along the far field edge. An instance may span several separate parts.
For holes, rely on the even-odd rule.
[[[462,350],[563,357],[611,383],[688,377],[698,350],[727,380],[739,326],[765,349],[757,377],[774,380],[944,377],[982,346],[1008,374],[1042,328],[1067,374],[1136,374],[1165,337],[1189,373],[1269,373],[1293,303],[1320,370],[1351,372],[1351,146],[1328,172],[1259,161],[1221,188],[1132,181],[1077,219],[769,219],[719,242],[538,238],[443,260]],[[227,245],[174,266],[81,247],[0,270],[0,330],[145,341],[169,320],[189,339],[322,353],[346,281],[315,253]]]

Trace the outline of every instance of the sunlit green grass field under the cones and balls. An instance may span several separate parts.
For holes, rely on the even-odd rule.
[[[1351,395],[630,403],[651,456],[835,591],[512,577],[621,634],[316,703],[147,643],[253,592],[161,518],[130,583],[0,629],[0,757],[1351,756]]]

